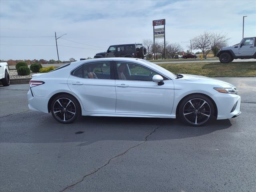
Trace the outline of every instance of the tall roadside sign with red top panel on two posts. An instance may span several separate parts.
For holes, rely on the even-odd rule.
[[[164,26],[162,28],[155,28],[155,26]],[[153,21],[153,37],[154,37],[154,59],[156,59],[156,52],[155,52],[155,39],[162,39],[164,38],[164,59],[166,59],[166,47],[165,47],[165,19],[154,20]]]

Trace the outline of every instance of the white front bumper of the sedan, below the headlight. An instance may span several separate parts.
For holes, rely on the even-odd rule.
[[[236,94],[217,93],[213,95],[213,100],[216,103],[218,116],[217,119],[230,119],[241,114],[241,97]],[[237,104],[236,104],[237,102]],[[236,108],[232,108],[236,104]],[[232,112],[231,112],[232,111]]]

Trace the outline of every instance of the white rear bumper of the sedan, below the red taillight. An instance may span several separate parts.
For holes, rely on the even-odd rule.
[[[27,97],[29,109],[48,113],[48,101],[50,98],[35,96],[35,94],[32,94],[32,90],[28,90]]]

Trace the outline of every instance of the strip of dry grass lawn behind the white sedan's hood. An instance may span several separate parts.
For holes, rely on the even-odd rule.
[[[159,64],[173,73],[208,77],[256,77],[256,62]]]

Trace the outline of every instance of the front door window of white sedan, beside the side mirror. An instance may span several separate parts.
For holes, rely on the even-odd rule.
[[[152,81],[157,73],[138,64],[117,62],[118,79],[135,81]]]

